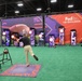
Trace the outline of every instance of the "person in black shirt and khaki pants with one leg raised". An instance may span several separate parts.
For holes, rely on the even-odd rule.
[[[39,58],[33,54],[33,51],[32,51],[32,48],[30,45],[30,40],[29,40],[29,37],[27,33],[24,33],[23,35],[23,38],[22,39],[16,39],[17,42],[23,42],[24,43],[24,51],[25,51],[25,54],[26,54],[26,66],[28,67],[30,64],[29,64],[29,60],[28,60],[28,53],[30,53],[30,55],[36,59],[36,60],[39,60]]]

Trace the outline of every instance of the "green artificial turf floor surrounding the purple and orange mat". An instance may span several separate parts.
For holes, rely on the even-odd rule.
[[[0,53],[4,48],[0,48]],[[13,64],[25,64],[23,48],[8,48]],[[41,65],[37,78],[0,77],[0,81],[82,81],[82,46],[33,46],[39,60],[29,55],[30,64]],[[2,70],[11,67],[8,62],[2,65]]]

